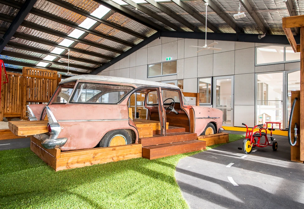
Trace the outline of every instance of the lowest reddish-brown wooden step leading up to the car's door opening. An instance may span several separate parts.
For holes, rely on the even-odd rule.
[[[203,149],[206,149],[205,141],[191,140],[143,147],[142,156],[147,159],[156,159]]]

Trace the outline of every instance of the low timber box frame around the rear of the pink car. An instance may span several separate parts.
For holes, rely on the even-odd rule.
[[[41,141],[35,136],[31,136],[30,149],[55,171],[142,156],[141,144],[61,151],[59,148],[45,149],[42,147]]]

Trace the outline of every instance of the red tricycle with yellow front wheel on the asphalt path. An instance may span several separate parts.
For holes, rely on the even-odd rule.
[[[271,141],[274,140],[274,137],[272,136],[272,131],[275,129],[273,128],[273,124],[280,124],[280,130],[285,131],[281,129],[281,123],[279,122],[266,122],[266,127],[268,126],[268,123],[272,124],[271,128],[268,128],[270,131],[270,139]],[[276,151],[278,149],[278,142],[273,142],[272,144],[269,144],[268,137],[267,137],[267,129],[263,127],[263,124],[256,125],[255,127],[252,128],[252,130],[248,130],[248,126],[245,123],[242,123],[242,125],[246,126],[247,131],[246,131],[246,137],[243,141],[243,147],[241,148],[245,154],[250,154],[252,151],[253,147],[267,147],[267,146],[272,146],[272,149]],[[254,129],[259,127],[259,130],[254,132]],[[261,137],[265,137],[265,143],[262,144],[260,142]],[[256,140],[258,138],[258,140]]]

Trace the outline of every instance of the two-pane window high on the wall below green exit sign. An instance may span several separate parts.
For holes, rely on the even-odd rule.
[[[148,77],[176,74],[176,61],[152,64],[148,66]]]

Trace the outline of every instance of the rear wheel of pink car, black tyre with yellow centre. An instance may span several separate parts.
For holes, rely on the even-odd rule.
[[[110,147],[123,144],[132,144],[132,137],[128,131],[119,129],[106,133],[100,140],[99,147]]]

